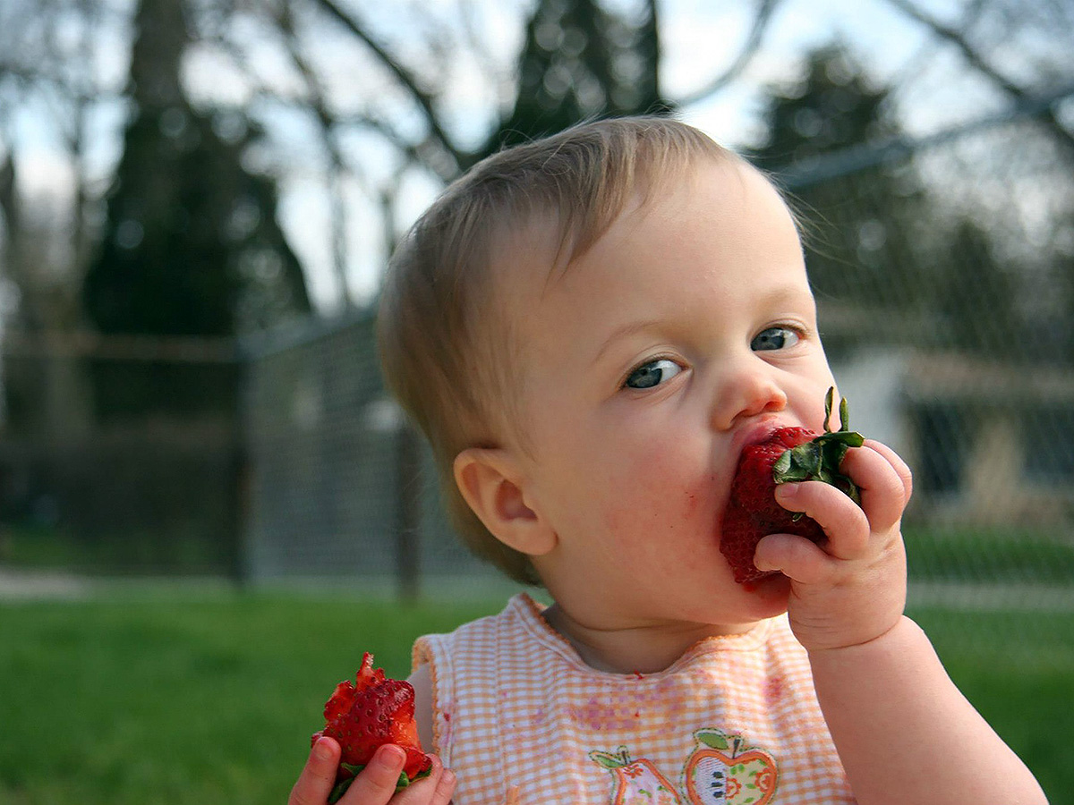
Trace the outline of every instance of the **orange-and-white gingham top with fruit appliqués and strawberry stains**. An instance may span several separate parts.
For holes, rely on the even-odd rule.
[[[656,674],[585,665],[525,594],[415,643],[454,805],[852,803],[786,617]]]

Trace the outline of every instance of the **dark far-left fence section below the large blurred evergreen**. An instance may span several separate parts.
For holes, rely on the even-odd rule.
[[[233,342],[8,333],[0,355],[0,570],[238,572]],[[135,394],[151,413],[120,412]]]

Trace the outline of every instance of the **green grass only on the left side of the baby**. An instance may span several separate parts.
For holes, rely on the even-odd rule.
[[[0,609],[0,802],[275,803],[363,649],[489,611],[267,596]]]

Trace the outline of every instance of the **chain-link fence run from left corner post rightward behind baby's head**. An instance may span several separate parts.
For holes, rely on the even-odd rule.
[[[809,222],[852,422],[915,469],[923,598],[1074,600],[1074,148],[1039,117],[1055,101],[775,174]],[[438,513],[372,313],[264,343],[248,374],[252,576],[495,579]]]

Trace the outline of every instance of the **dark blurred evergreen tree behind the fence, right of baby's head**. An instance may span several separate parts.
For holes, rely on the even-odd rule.
[[[924,296],[916,258],[924,195],[910,167],[880,164],[850,177],[814,181],[821,157],[877,146],[900,131],[887,104],[845,46],[811,52],[799,79],[773,88],[763,115],[766,135],[753,161],[778,177],[794,166],[793,203],[803,219],[811,281],[822,304],[886,309],[888,336],[912,322]],[[899,316],[890,313],[898,312]],[[834,333],[839,347],[850,334]]]

